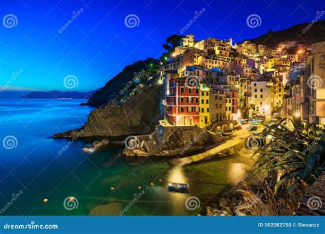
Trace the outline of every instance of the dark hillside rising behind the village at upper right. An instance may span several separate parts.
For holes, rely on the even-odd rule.
[[[248,40],[270,48],[275,48],[276,44],[285,40],[296,40],[298,44],[313,44],[325,41],[325,20],[317,21],[312,27],[306,29],[309,24],[311,23],[301,23],[282,31],[269,31],[258,38]]]

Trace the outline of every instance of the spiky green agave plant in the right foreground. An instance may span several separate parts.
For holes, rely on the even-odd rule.
[[[290,119],[267,126],[263,138],[271,139],[256,150],[255,172],[266,171],[270,187],[294,192],[298,182],[313,183],[325,169],[323,125],[297,125]],[[254,157],[253,155],[253,157]]]

